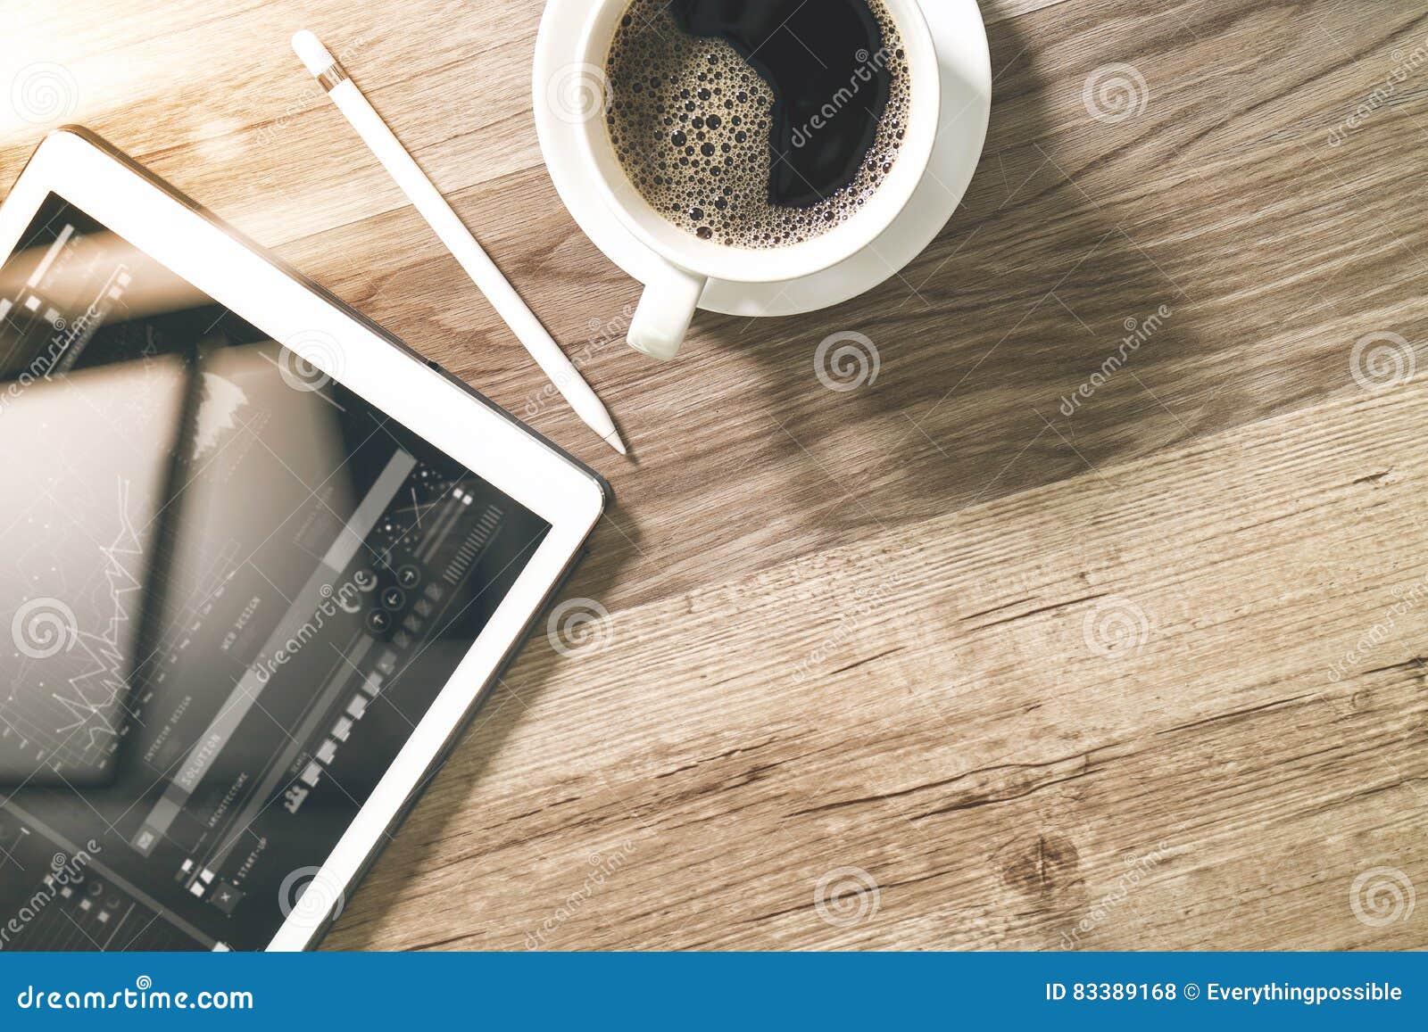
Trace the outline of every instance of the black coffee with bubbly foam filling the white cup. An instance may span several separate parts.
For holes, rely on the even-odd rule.
[[[605,74],[631,183],[675,226],[737,247],[848,218],[907,124],[902,43],[881,0],[633,0]]]

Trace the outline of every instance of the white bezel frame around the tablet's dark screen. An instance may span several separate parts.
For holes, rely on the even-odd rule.
[[[103,141],[81,133],[50,133],[31,156],[0,206],[0,258],[16,248],[46,197],[59,194],[273,340],[328,334],[338,351],[304,351],[308,361],[551,527],[323,862],[317,875],[321,895],[336,898],[351,888],[423,775],[520,644],[600,518],[605,490],[588,470],[284,271],[180,194],[110,153]],[[313,909],[294,909],[268,949],[310,946],[330,916]]]

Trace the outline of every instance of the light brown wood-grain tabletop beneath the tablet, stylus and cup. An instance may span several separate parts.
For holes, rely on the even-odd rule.
[[[541,166],[540,4],[6,11],[4,181],[41,131],[11,84],[60,66],[53,123],[618,495],[568,591],[608,618],[537,635],[330,946],[1428,945],[1428,4],[982,10],[991,134],[937,241],[828,311],[701,314],[667,365]],[[588,347],[631,461],[544,400],[298,27]],[[823,385],[837,331],[875,380]]]

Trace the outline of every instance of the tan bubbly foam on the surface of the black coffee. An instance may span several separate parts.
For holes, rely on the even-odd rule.
[[[621,168],[665,220],[721,244],[770,248],[818,237],[857,213],[892,167],[907,127],[908,76],[891,14],[870,0],[881,47],[860,63],[887,69],[887,107],[853,181],[805,207],[768,197],[774,94],[723,39],[683,31],[663,0],[633,0],[605,61],[605,128]],[[865,59],[865,60],[864,60]],[[857,104],[858,80],[823,111]],[[817,120],[794,127],[794,146],[815,146]]]

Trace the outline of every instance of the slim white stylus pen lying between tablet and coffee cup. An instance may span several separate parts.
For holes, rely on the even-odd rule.
[[[581,378],[565,353],[560,350],[545,327],[521,300],[521,295],[501,275],[501,270],[476,243],[476,237],[461,224],[451,206],[411,160],[411,154],[387,128],[387,123],[361,96],[361,90],[347,77],[337,59],[321,44],[321,40],[306,29],[293,36],[293,50],[303,59],[303,64],[317,77],[321,87],[327,90],[327,96],[337,104],[337,110],[347,117],[347,121],[357,130],[357,136],[377,156],[377,160],[397,181],[421,217],[441,237],[441,243],[447,246],[466,274],[486,294],[486,300],[496,308],[496,314],[506,320],[516,338],[541,367],[555,390],[565,397],[570,407],[575,410],[575,415],[600,434],[611,448],[624,455],[624,441],[620,440],[615,424],[610,420],[610,413],[590,390],[590,384]]]

